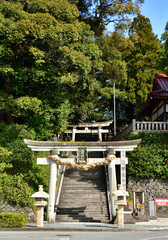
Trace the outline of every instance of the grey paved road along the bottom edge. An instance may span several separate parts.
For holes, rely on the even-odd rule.
[[[0,240],[168,240],[168,230],[144,232],[0,232]]]

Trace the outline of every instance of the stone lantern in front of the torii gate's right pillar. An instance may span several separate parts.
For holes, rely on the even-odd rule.
[[[113,196],[117,197],[115,204],[118,205],[118,227],[124,227],[124,206],[127,205],[126,196],[129,196],[128,192],[122,189],[122,185],[118,185],[118,190],[113,192]]]

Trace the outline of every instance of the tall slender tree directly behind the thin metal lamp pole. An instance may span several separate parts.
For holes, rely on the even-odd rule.
[[[99,110],[108,118],[113,118],[113,83],[115,82],[117,122],[128,121],[130,111],[125,111],[127,66],[124,58],[130,52],[132,42],[117,31],[100,37],[97,42],[102,50],[104,62],[103,70],[98,74],[101,82]]]

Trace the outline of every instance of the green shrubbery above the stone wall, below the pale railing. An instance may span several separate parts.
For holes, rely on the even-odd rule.
[[[128,154],[128,178],[168,178],[168,166],[163,161],[168,157],[167,134],[130,134],[128,140],[142,139],[134,151]]]

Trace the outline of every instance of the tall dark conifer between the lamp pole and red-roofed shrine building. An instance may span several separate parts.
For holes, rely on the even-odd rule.
[[[128,99],[138,106],[152,89],[154,72],[160,54],[160,43],[152,32],[150,20],[142,15],[134,18],[129,30],[133,48],[126,57],[128,67]]]

